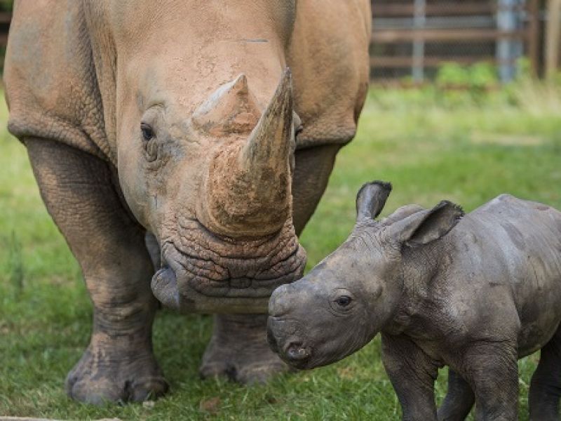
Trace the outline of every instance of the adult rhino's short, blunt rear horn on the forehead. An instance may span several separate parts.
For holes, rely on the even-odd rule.
[[[248,78],[240,74],[224,83],[195,110],[194,126],[205,133],[222,137],[249,133],[259,119],[259,107],[252,95]]]

